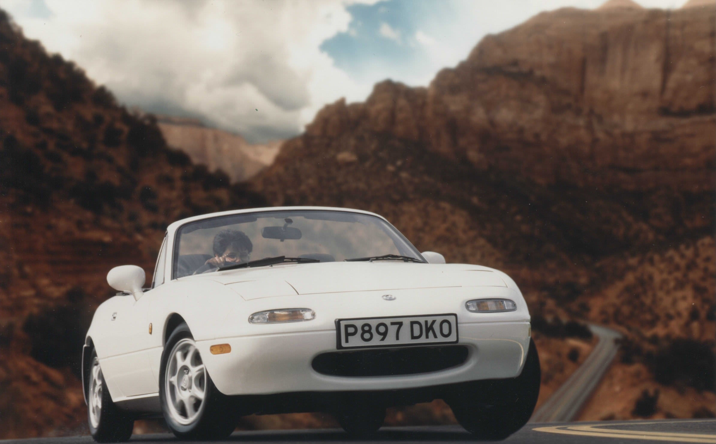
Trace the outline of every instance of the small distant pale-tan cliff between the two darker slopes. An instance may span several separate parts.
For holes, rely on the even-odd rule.
[[[238,134],[205,127],[195,119],[158,117],[167,144],[180,149],[209,171],[221,169],[232,182],[243,182],[274,162],[283,141],[249,144]]]

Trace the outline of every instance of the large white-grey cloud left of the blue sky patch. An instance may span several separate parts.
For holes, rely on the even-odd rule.
[[[0,7],[120,101],[262,140],[298,134],[326,102],[369,91],[319,49],[348,31],[352,2],[45,0],[44,17],[26,1]]]

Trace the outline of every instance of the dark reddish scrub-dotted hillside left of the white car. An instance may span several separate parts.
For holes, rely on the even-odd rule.
[[[150,273],[175,219],[263,202],[168,148],[152,117],[3,11],[0,164],[0,438],[82,430],[79,350],[107,271]]]

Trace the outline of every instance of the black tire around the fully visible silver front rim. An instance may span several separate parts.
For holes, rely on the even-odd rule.
[[[177,438],[185,440],[218,440],[231,435],[238,423],[235,409],[232,408],[229,398],[219,392],[211,381],[209,374],[204,370],[203,385],[204,398],[199,404],[197,414],[191,418],[180,418],[189,423],[180,423],[175,419],[177,410],[172,410],[168,402],[173,403],[173,395],[167,393],[167,370],[170,355],[180,342],[192,343],[193,337],[186,324],[178,325],[170,335],[162,353],[161,370],[159,375],[159,399],[162,413],[167,427]],[[175,350],[176,351],[176,350]],[[196,350],[198,355],[198,350]],[[199,357],[200,359],[200,357]],[[184,390],[184,389],[177,389]],[[175,395],[174,395],[175,396]],[[198,401],[197,401],[198,402]],[[186,404],[184,404],[186,408]],[[173,413],[174,412],[174,413]],[[186,411],[188,415],[188,411]]]

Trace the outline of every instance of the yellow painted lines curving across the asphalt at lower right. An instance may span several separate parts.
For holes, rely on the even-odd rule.
[[[676,423],[677,421],[660,422]],[[680,421],[679,421],[680,422]],[[692,422],[692,421],[690,421]],[[702,422],[702,421],[699,421]],[[609,424],[609,427],[615,425],[644,425],[653,423],[618,423]],[[599,428],[597,428],[599,427]],[[654,441],[672,441],[678,443],[708,443],[716,444],[716,435],[701,435],[697,433],[671,433],[671,432],[641,432],[639,430],[619,430],[612,428],[604,428],[604,425],[554,425],[551,427],[538,427],[532,430],[547,433],[561,433],[563,435],[581,435],[581,436],[601,436],[602,438],[622,438],[632,440],[654,440]]]

